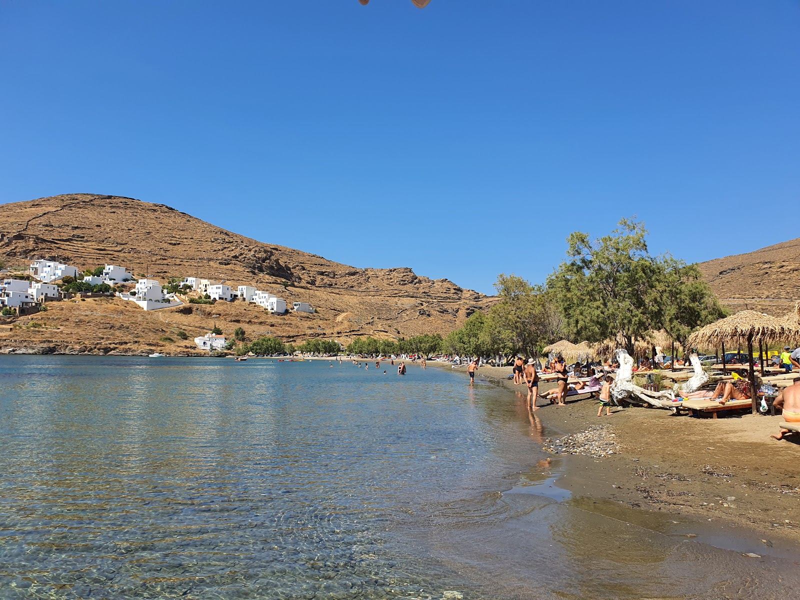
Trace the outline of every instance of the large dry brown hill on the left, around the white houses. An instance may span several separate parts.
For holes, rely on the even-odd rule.
[[[104,351],[134,351],[136,346],[135,351],[143,351],[165,350],[157,340],[170,337],[165,332],[169,334],[178,321],[191,337],[210,328],[213,321],[226,334],[242,325],[246,330],[250,326],[253,334],[269,331],[289,341],[324,337],[347,343],[366,334],[381,338],[446,334],[474,310],[492,302],[446,279],[420,277],[408,268],[358,269],[222,230],[169,206],[119,196],[64,194],[0,205],[0,258],[9,266],[26,266],[32,258],[58,258],[81,269],[109,263],[162,282],[199,276],[234,288],[256,286],[286,302],[310,302],[318,310],[314,315],[278,317],[244,302],[192,305],[190,315],[178,312],[180,307],[147,314],[140,310],[141,315],[135,317],[138,330],[150,331],[148,323],[154,328],[134,343],[130,334],[114,331],[115,322],[132,318],[134,305],[121,300],[85,302],[81,310],[91,306],[92,314],[81,318],[73,314],[78,309],[70,308],[74,305],[70,302],[52,305],[48,313],[37,315],[38,322],[44,319],[46,323],[43,329],[0,333],[0,342],[17,338],[22,343],[21,338],[27,336],[57,349],[69,342],[71,326],[66,323],[75,318],[86,325],[85,350],[103,346]],[[165,321],[170,326],[164,327]],[[99,324],[102,336],[91,327],[92,322]],[[115,340],[120,343],[115,345]],[[184,343],[182,350],[183,346],[188,348]]]

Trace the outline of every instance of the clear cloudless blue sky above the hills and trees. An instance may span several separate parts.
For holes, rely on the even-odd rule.
[[[797,0],[0,2],[0,202],[165,203],[491,293],[638,215],[800,235]]]

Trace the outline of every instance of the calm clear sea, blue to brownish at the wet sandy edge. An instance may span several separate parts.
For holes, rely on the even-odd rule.
[[[728,551],[569,498],[523,401],[451,370],[5,356],[0,386],[0,598],[691,598],[736,577],[675,578]]]

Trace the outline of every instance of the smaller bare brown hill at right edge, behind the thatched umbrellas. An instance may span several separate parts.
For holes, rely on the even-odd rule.
[[[698,267],[722,304],[732,310],[747,307],[782,315],[800,301],[800,238]]]

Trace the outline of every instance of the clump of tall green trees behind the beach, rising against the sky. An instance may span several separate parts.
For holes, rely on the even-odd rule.
[[[725,316],[695,265],[652,256],[642,222],[622,219],[602,238],[575,232],[566,261],[533,286],[514,274],[494,284],[498,302],[445,338],[446,350],[469,356],[540,354],[562,338],[600,342],[619,336],[630,354],[637,339],[666,330],[682,343]]]

